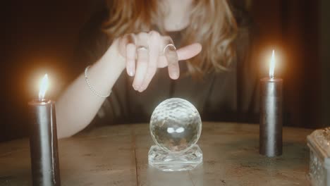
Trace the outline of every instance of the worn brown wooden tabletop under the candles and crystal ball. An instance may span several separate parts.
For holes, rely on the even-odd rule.
[[[259,155],[259,125],[203,123],[201,166],[161,172],[148,166],[149,125],[115,125],[59,140],[61,185],[309,185],[312,130],[283,128],[283,155]],[[0,185],[32,185],[27,139],[0,144]]]

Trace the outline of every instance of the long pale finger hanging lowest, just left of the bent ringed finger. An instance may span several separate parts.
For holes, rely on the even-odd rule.
[[[143,92],[147,89],[149,83],[154,77],[154,74],[157,70],[157,60],[159,56],[159,43],[161,41],[161,36],[156,31],[149,32],[149,63],[147,68],[147,73],[145,74],[145,79],[143,80],[142,86],[140,87],[139,91]]]

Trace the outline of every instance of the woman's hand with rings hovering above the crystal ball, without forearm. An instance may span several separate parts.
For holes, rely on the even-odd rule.
[[[114,43],[118,43],[119,53],[126,60],[128,75],[135,76],[133,88],[139,92],[147,89],[157,68],[168,66],[169,76],[178,79],[178,61],[193,58],[202,50],[199,43],[176,49],[171,37],[156,31],[125,35]]]

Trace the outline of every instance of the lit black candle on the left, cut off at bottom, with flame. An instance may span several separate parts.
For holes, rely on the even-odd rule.
[[[30,154],[33,185],[61,185],[54,101],[45,100],[47,75],[42,80],[39,99],[30,101]]]

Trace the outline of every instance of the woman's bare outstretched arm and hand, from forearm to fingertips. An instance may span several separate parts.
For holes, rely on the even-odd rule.
[[[201,50],[202,46],[197,43],[176,50],[170,37],[163,37],[155,31],[130,34],[115,39],[104,56],[89,68],[87,76],[94,90],[106,95],[126,68],[129,75],[134,75],[133,88],[142,92],[148,87],[157,68],[168,66],[169,76],[177,79],[180,72],[178,61],[192,58]],[[80,75],[57,100],[58,137],[69,137],[84,129],[104,99],[94,94],[87,85],[85,75]]]

